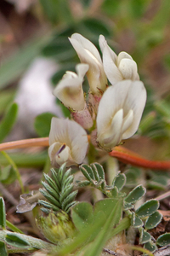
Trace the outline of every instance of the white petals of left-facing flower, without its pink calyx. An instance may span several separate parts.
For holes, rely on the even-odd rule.
[[[79,64],[76,67],[77,73],[67,71],[54,89],[54,96],[63,102],[65,107],[80,111],[85,108],[85,99],[82,90],[82,82],[85,73],[88,71],[87,64]]]

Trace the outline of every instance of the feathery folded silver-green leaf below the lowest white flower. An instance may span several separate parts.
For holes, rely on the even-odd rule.
[[[71,169],[65,171],[65,164],[59,168],[59,170],[51,170],[53,177],[49,177],[44,173],[46,180],[42,182],[44,189],[40,189],[42,195],[48,200],[39,200],[42,205],[43,212],[69,212],[70,208],[76,203],[75,197],[77,196],[77,190],[73,190],[73,176],[71,175]]]

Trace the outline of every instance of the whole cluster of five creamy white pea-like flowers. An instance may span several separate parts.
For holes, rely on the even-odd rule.
[[[130,55],[116,55],[100,36],[102,60],[98,49],[82,35],[75,33],[69,39],[81,64],[76,67],[77,73],[66,72],[54,89],[54,96],[74,119],[52,119],[48,154],[54,166],[82,163],[88,150],[87,131],[93,131],[95,144],[106,151],[132,137],[146,102],[144,84],[139,81],[137,64]],[[87,98],[82,90],[85,74]]]

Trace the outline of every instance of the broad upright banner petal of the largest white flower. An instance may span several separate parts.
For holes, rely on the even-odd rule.
[[[123,109],[122,130],[113,129],[112,132],[122,133],[122,139],[132,137],[139,127],[144,105],[146,102],[146,90],[140,81],[122,80],[114,86],[110,86],[99,102],[97,114],[98,137],[111,125],[111,119]],[[112,126],[113,127],[113,126]]]

